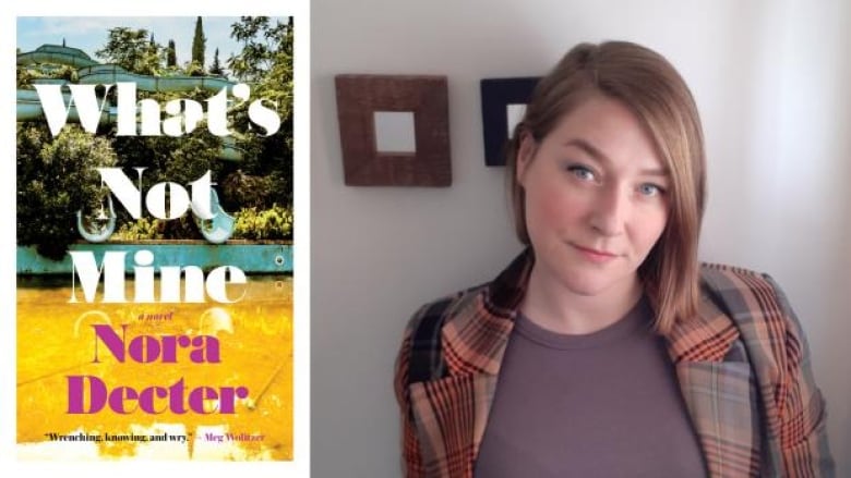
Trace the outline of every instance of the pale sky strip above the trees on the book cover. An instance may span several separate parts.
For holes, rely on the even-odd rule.
[[[95,51],[107,44],[109,28],[125,26],[145,28],[154,33],[154,40],[163,46],[175,40],[178,64],[192,58],[192,38],[195,34],[195,16],[19,16],[17,47],[21,52],[33,51],[45,44],[80,48],[94,60]],[[223,66],[240,45],[230,38],[230,25],[238,16],[202,16],[206,50],[204,65],[213,64],[216,48]],[[283,21],[283,20],[281,20]]]

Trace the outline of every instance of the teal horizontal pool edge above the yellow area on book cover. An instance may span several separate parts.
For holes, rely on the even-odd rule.
[[[133,271],[133,255],[137,250],[154,253],[156,268],[163,266],[197,266],[212,270],[219,266],[236,266],[245,273],[292,273],[292,243],[228,241],[225,244],[209,244],[204,241],[139,241],[110,242],[104,244],[72,244],[70,250],[91,250],[100,263],[104,253],[117,250],[128,253],[124,271]],[[17,273],[25,275],[71,273],[71,256],[51,260],[38,253],[34,246],[17,246]]]

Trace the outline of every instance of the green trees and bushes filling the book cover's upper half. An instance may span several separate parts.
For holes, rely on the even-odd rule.
[[[241,17],[233,24],[231,36],[243,46],[228,60],[237,81],[249,83],[252,99],[274,108],[281,120],[280,128],[271,136],[251,128],[248,103],[241,102],[228,112],[229,127],[235,132],[236,146],[242,151],[239,162],[219,157],[223,140],[212,135],[202,123],[181,137],[117,136],[115,125],[101,126],[97,135],[83,132],[76,125],[67,126],[56,138],[44,122],[17,124],[17,232],[20,244],[38,244],[39,252],[61,257],[68,244],[79,240],[75,212],[81,207],[96,210],[106,196],[95,168],[121,167],[135,177],[132,168],[146,168],[142,180],[143,194],[155,183],[169,181],[181,185],[212,171],[223,206],[237,217],[233,238],[281,240],[292,231],[292,21],[283,24],[267,17]],[[203,36],[201,19],[196,36]],[[193,41],[193,58],[195,50]],[[177,64],[173,41],[163,48],[145,29],[116,27],[108,30],[106,45],[97,57],[128,71],[149,74],[202,75],[201,62]],[[231,64],[238,65],[236,70]],[[221,68],[218,50],[212,72]],[[58,77],[76,82],[73,68],[60,66],[17,69],[17,86],[29,87],[32,81]],[[113,95],[115,88],[110,93]],[[160,105],[176,98],[194,99],[202,105],[211,93],[137,91],[137,99],[155,99]],[[110,98],[115,101],[115,98]],[[167,117],[167,114],[165,114]],[[134,181],[135,183],[135,181]],[[281,206],[284,205],[284,206]],[[191,215],[176,220],[143,217],[133,220],[116,204],[119,231],[115,240],[201,238]]]

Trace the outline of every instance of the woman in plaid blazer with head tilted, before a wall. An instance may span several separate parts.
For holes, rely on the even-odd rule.
[[[423,306],[403,341],[407,476],[832,476],[782,292],[697,260],[703,134],[667,60],[572,49],[506,172],[527,249]]]

